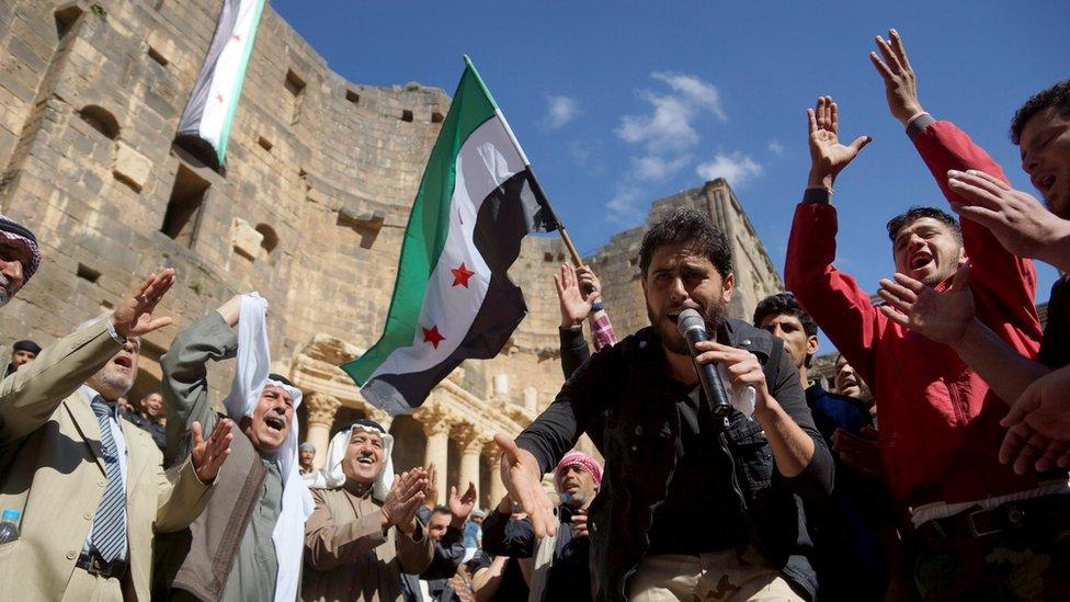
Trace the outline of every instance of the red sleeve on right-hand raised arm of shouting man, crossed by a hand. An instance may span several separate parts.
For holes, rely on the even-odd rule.
[[[914,135],[913,140],[948,201],[961,201],[947,188],[949,169],[976,169],[1006,182],[1000,166],[951,122],[933,122]],[[1008,252],[988,228],[970,219],[963,219],[961,226],[978,317],[1017,351],[1035,357],[1040,321],[1035,305],[1033,262]]]

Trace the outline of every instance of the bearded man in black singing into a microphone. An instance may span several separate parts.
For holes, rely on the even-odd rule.
[[[537,537],[556,533],[542,475],[583,432],[604,432],[588,518],[596,599],[812,598],[795,493],[818,503],[833,468],[790,357],[769,332],[725,318],[731,250],[705,215],[676,209],[653,224],[639,269],[651,326],[591,356],[515,443],[496,438],[510,496]],[[694,359],[678,331],[684,309],[716,339]],[[730,416],[713,413],[696,364],[721,373]]]

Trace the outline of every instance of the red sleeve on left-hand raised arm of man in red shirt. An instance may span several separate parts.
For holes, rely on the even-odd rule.
[[[835,208],[799,203],[784,262],[784,282],[862,379],[876,387],[876,348],[889,325],[854,277],[836,270]]]

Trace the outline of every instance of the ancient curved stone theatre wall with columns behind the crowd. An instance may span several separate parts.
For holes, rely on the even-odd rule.
[[[219,7],[0,0],[0,211],[30,225],[44,254],[31,285],[0,314],[0,331],[5,343],[48,344],[145,274],[173,266],[179,284],[161,313],[177,323],[144,342],[137,398],[158,387],[158,357],[175,332],[257,289],[271,303],[273,367],[308,394],[301,416],[322,446],[335,417],[391,422],[335,366],[379,334],[409,208],[449,99],[414,83],[344,80],[269,7],[226,166],[215,171],[173,141]],[[658,201],[651,219],[675,205],[707,211],[730,232],[733,315],[781,288],[726,183]],[[646,322],[640,236],[622,232],[591,258],[622,337]],[[514,434],[560,388],[550,277],[566,260],[556,236],[525,240],[511,275],[531,314],[506,349],[444,382],[417,414],[419,429],[395,421],[410,445],[401,456],[437,458],[458,478],[476,478],[485,503],[498,493],[490,435]],[[229,365],[210,378],[226,390]],[[420,430],[426,441],[412,439]],[[451,446],[459,464],[441,455]]]

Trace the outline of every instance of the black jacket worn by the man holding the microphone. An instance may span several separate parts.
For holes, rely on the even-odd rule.
[[[804,400],[798,372],[784,345],[769,332],[726,320],[717,340],[754,353],[770,393],[810,436],[813,458],[801,474],[785,478],[775,469],[758,422],[733,413],[720,433],[720,452],[732,459],[731,487],[753,543],[796,589],[813,598],[812,544],[798,496],[813,503],[832,489],[832,457]],[[665,375],[657,332],[645,328],[591,356],[565,383],[557,399],[516,439],[544,472],[587,432],[605,457],[602,489],[592,502],[591,567],[596,599],[625,600],[628,579],[649,544],[653,509],[664,500],[681,445],[676,399],[653,383]]]

